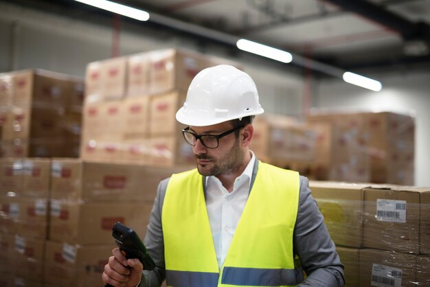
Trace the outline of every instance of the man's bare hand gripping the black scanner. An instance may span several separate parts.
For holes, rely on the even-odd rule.
[[[138,259],[126,259],[119,248],[112,250],[113,256],[104,266],[102,280],[104,284],[115,287],[135,287],[142,279],[144,266]]]

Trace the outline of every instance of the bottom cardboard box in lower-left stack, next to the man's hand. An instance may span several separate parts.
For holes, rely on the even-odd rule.
[[[90,287],[102,284],[102,272],[115,244],[92,246],[46,243],[45,286]]]

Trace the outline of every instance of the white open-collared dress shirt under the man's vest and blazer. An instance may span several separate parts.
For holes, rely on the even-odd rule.
[[[249,196],[251,176],[256,157],[251,152],[247,168],[236,178],[233,191],[228,192],[215,176],[206,178],[206,206],[214,240],[218,268],[224,264],[231,240]]]

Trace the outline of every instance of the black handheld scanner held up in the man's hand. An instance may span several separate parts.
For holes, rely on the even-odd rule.
[[[155,268],[154,260],[150,257],[144,242],[140,240],[136,231],[126,227],[121,222],[116,222],[112,228],[112,236],[127,259],[137,258],[144,265],[144,270]],[[104,287],[111,287],[111,285],[106,284]]]

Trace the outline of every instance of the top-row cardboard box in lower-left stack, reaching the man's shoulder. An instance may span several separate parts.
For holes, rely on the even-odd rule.
[[[152,202],[159,181],[183,167],[52,159],[51,196],[106,202]]]

